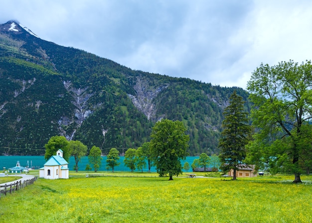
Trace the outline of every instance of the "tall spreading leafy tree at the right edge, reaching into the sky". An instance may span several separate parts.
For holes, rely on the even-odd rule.
[[[259,130],[248,146],[248,159],[259,168],[295,174],[311,166],[312,65],[261,64],[248,82],[252,121]],[[309,168],[308,168],[309,169]]]

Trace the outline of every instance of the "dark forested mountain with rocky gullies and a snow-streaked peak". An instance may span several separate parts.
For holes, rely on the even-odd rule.
[[[123,154],[150,141],[157,120],[180,120],[190,155],[217,153],[223,109],[238,87],[134,71],[0,25],[0,154],[42,155],[50,137]],[[249,110],[246,103],[246,110]]]

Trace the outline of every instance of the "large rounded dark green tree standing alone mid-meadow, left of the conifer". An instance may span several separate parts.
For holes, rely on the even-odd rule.
[[[159,176],[182,173],[181,160],[188,154],[189,136],[185,134],[186,128],[181,121],[162,119],[156,122],[152,129],[150,149],[153,154],[157,173]]]

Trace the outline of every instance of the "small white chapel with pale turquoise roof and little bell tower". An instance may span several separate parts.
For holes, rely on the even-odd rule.
[[[52,180],[69,178],[68,162],[63,158],[62,149],[58,149],[56,155],[52,155],[39,169],[39,177]]]

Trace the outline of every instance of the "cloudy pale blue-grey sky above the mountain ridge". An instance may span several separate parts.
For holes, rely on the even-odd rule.
[[[311,0],[1,0],[41,39],[133,70],[246,89],[263,64],[312,60]]]

